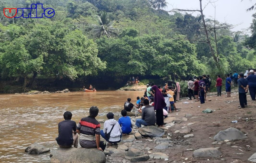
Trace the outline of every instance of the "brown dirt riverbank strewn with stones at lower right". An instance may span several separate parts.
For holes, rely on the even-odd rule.
[[[212,100],[212,101],[208,101]],[[181,111],[173,112],[169,114],[169,117],[182,118],[185,117],[187,113],[193,115],[193,118],[188,117],[188,121],[183,121],[180,124],[175,124],[169,130],[171,140],[173,141],[173,147],[169,147],[165,150],[154,149],[156,144],[154,142],[148,142],[148,138],[143,138],[142,140],[135,140],[132,142],[132,147],[137,148],[145,152],[145,154],[150,154],[154,152],[162,152],[169,155],[169,160],[164,161],[164,159],[149,159],[146,163],[151,162],[180,162],[180,163],[233,163],[233,162],[249,162],[247,159],[251,157],[253,153],[256,152],[256,102],[251,102],[250,96],[247,96],[248,108],[238,109],[239,100],[238,93],[232,93],[231,97],[222,96],[208,96],[205,104],[200,104],[200,102],[195,102],[194,100],[181,100],[175,105],[180,108]],[[183,104],[184,102],[189,102],[188,104]],[[198,107],[201,106],[201,107]],[[210,108],[215,110],[212,113],[202,113],[202,110]],[[249,120],[245,120],[248,118]],[[255,119],[254,119],[255,118]],[[238,122],[232,123],[231,121],[237,120]],[[176,130],[180,130],[181,127],[186,126],[189,123],[194,123],[190,125],[192,131],[190,133],[195,136],[192,138],[183,138],[186,134],[174,133]],[[222,130],[226,130],[229,127],[235,127],[238,130],[244,132],[248,135],[247,139],[231,141],[231,145],[225,142],[221,145],[213,145],[215,142],[212,138]],[[135,143],[136,141],[142,141],[140,143]],[[246,146],[249,145],[250,147]],[[239,146],[241,148],[233,147]],[[153,148],[153,151],[145,150],[145,147]],[[208,147],[220,147],[222,153],[220,158],[193,158],[193,151],[199,148]],[[192,151],[187,151],[187,149],[193,149]],[[242,153],[242,154],[237,154]],[[187,159],[186,159],[187,158]],[[128,159],[123,157],[112,157],[109,159],[111,162],[130,162]],[[209,160],[207,160],[209,159]]]

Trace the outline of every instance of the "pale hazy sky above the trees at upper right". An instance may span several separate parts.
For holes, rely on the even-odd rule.
[[[208,3],[209,0],[202,0],[202,6]],[[228,24],[237,25],[232,31],[244,31],[244,29],[249,28],[252,23],[252,14],[256,11],[246,11],[256,0],[211,0],[215,2],[216,6],[216,20],[219,22],[226,22]],[[170,11],[173,8],[178,9],[190,9],[197,10],[200,9],[199,0],[166,0],[168,2],[168,7],[165,8],[166,11]],[[253,3],[254,2],[254,3]],[[184,13],[184,12],[183,12]],[[192,12],[188,12],[192,13]],[[214,19],[214,7],[212,4],[208,4],[203,11],[205,18]],[[193,16],[197,16],[199,12],[192,13]],[[239,24],[239,25],[238,25]]]

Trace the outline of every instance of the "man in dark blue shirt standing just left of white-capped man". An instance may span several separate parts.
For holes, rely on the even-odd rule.
[[[238,96],[239,96],[239,102],[240,106],[238,109],[247,107],[247,99],[246,99],[246,93],[248,92],[248,80],[244,79],[244,73],[239,74],[239,79],[237,80],[238,83]]]

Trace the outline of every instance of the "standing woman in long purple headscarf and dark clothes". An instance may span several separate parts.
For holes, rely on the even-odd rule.
[[[163,109],[166,106],[162,92],[157,88],[156,85],[152,87],[155,91],[154,95],[154,109],[156,110],[156,124],[158,126],[164,126],[164,112]]]

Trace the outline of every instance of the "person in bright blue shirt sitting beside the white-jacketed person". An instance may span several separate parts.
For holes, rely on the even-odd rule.
[[[126,110],[122,110],[121,114],[123,117],[119,118],[118,123],[121,126],[122,129],[122,135],[125,134],[129,134],[132,132],[132,122],[131,122],[131,118],[127,115],[127,111]]]

